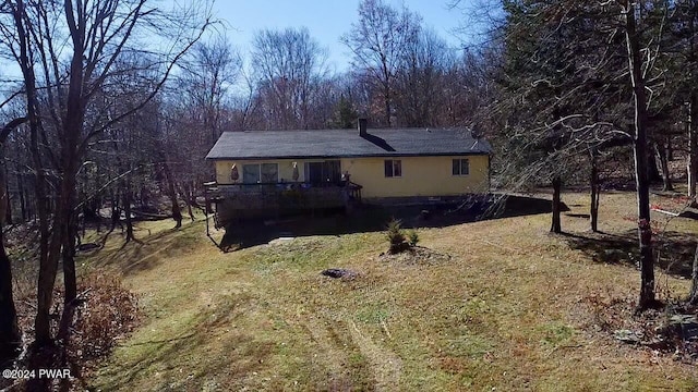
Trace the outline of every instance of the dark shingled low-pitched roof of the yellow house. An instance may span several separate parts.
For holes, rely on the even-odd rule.
[[[464,130],[389,128],[224,132],[206,159],[302,159],[486,155],[490,144]]]

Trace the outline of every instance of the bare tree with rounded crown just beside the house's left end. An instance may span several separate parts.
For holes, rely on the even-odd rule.
[[[177,189],[194,220],[196,194],[201,193],[202,184],[210,180],[210,163],[204,157],[224,131],[229,115],[230,90],[241,75],[241,66],[240,54],[225,38],[217,36],[209,42],[198,42],[186,58],[184,72],[164,96],[167,103],[160,106],[160,110],[179,121],[167,122],[168,130],[176,132],[158,142],[169,148],[154,157],[158,158],[157,164],[163,169],[167,182],[165,189],[172,203],[172,216],[178,228],[181,225],[181,211]],[[169,135],[169,132],[161,134]],[[185,143],[189,148],[178,150],[178,143]]]

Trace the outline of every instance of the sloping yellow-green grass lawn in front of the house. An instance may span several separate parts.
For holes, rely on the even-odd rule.
[[[547,233],[549,215],[419,229],[419,244],[442,257],[416,261],[381,257],[387,241],[376,231],[224,254],[202,221],[179,231],[147,223],[149,232],[136,233],[142,244],[110,241],[80,260],[122,273],[144,315],[89,383],[103,391],[698,390],[695,365],[616,342],[590,306],[592,297],[637,296],[633,256],[604,258],[614,250],[590,246],[633,237],[634,195],[602,195],[605,235],[587,232],[586,195],[564,201],[568,235]],[[685,218],[653,218],[684,240],[698,229]],[[358,277],[326,278],[326,268]],[[658,273],[664,297],[687,293],[687,280]]]

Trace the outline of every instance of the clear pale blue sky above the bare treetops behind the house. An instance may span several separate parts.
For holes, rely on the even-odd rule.
[[[423,19],[423,24],[436,30],[454,48],[461,46],[455,30],[464,22],[462,11],[449,9],[449,0],[385,0],[395,8],[405,4]],[[339,37],[358,20],[359,0],[218,0],[216,16],[228,27],[231,44],[248,53],[254,33],[264,29],[308,27],[311,37],[329,51],[327,65],[342,71],[349,65],[349,53]]]

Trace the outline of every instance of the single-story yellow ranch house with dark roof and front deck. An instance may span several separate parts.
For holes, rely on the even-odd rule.
[[[490,189],[490,144],[462,130],[225,132],[206,159],[218,224],[265,212],[447,200]]]

